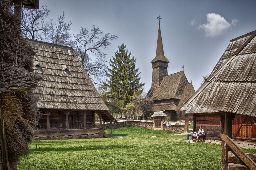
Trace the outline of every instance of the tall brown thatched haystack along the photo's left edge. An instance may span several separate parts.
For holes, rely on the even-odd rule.
[[[0,99],[9,162],[11,169],[15,169],[19,157],[27,154],[30,137],[39,119],[32,90],[41,76],[33,72],[31,56],[35,55],[34,50],[21,36],[19,19],[12,14],[8,0],[0,1],[0,25],[0,88],[6,89],[0,93]]]

